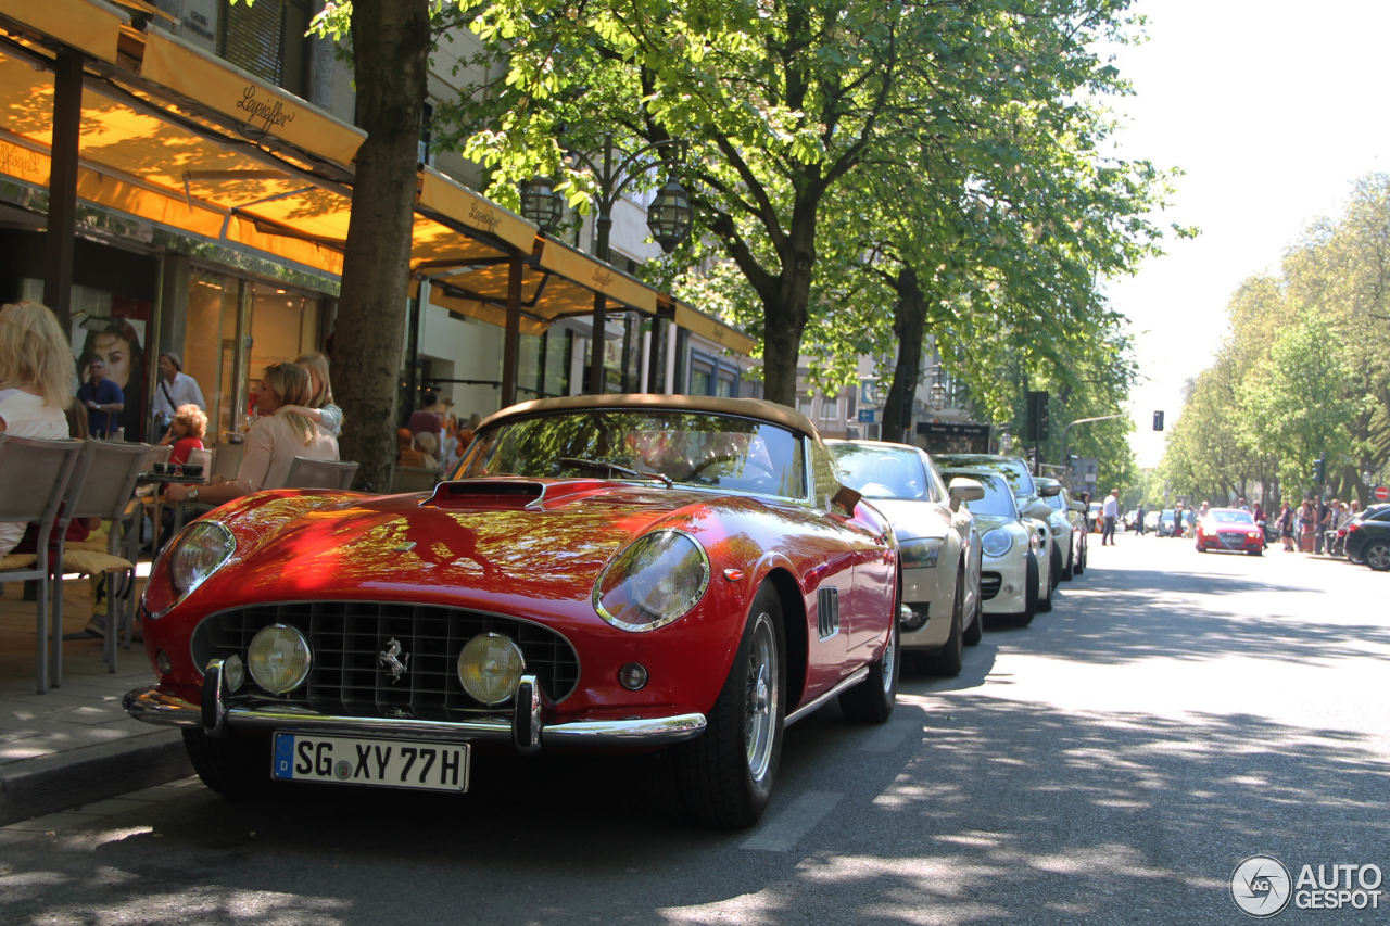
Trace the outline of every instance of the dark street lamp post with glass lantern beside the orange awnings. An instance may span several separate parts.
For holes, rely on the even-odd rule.
[[[594,174],[598,184],[598,218],[594,222],[594,256],[602,261],[609,260],[609,235],[613,231],[613,206],[627,190],[628,185],[642,174],[645,168],[632,170],[641,163],[644,154],[671,150],[676,159],[684,157],[685,143],[677,139],[652,142],[635,152],[626,152],[613,143],[613,135],[603,135],[603,150],[595,159],[578,150],[567,150],[566,161],[584,164]],[[648,209],[646,227],[652,231],[652,238],[662,250],[671,253],[691,231],[694,210],[685,189],[674,179],[663,186],[652,206]],[[607,300],[603,293],[594,293],[594,350],[589,357],[589,392],[600,395],[603,392],[603,330],[607,324]]]

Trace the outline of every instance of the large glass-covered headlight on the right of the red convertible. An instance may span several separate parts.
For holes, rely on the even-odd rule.
[[[656,630],[689,613],[708,584],[709,559],[699,544],[681,531],[653,531],[603,570],[594,610],[621,630]]]

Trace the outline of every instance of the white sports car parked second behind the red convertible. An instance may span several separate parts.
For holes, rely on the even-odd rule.
[[[1004,476],[991,470],[944,470],[947,480],[970,478],[984,488],[984,498],[969,502],[980,533],[980,596],[984,613],[1027,626],[1042,608],[1047,588],[1048,526],[1019,512],[1019,502]]]

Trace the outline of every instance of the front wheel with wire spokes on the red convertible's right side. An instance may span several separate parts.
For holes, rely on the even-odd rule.
[[[781,602],[767,583],[753,598],[705,733],[673,749],[681,799],[696,823],[746,829],[767,809],[781,762],[785,652]]]

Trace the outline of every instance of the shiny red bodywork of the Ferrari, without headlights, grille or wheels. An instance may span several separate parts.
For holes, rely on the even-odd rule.
[[[545,498],[486,491],[480,482],[543,487]],[[450,485],[467,494],[450,495]],[[482,487],[485,488],[485,485]],[[853,517],[748,495],[634,485],[607,480],[488,478],[442,484],[435,496],[366,496],[278,489],[207,516],[236,538],[232,559],[174,605],[168,558],[146,585],[145,645],[172,662],[161,687],[199,704],[202,667],[190,637],[207,616],[274,602],[370,601],[445,605],[520,617],[566,637],[580,681],[553,705],[553,720],[657,717],[708,712],[724,684],[748,609],[774,570],[799,592],[805,681],[791,708],[878,658],[895,619],[897,551],[887,520],[859,503]],[[651,633],[607,624],[592,603],[595,581],[624,546],[655,528],[695,537],[710,580],[692,612]],[[726,570],[737,570],[735,581]],[[840,588],[841,631],[816,633],[817,592]],[[848,599],[848,601],[847,601]],[[791,612],[792,609],[784,609]],[[619,669],[641,662],[649,683],[619,684]],[[158,672],[158,669],[156,669]],[[796,677],[796,676],[792,676]]]

